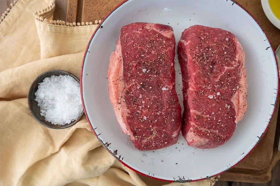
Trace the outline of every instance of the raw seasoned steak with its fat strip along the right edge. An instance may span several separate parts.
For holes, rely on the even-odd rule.
[[[232,33],[194,25],[178,45],[188,144],[215,148],[233,135],[247,110],[245,53]]]

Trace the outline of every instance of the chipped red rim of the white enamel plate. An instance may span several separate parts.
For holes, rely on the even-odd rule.
[[[94,37],[94,35],[96,34],[97,30],[100,28],[100,26],[101,26],[102,23],[104,22],[104,20],[106,20],[106,19],[108,18],[108,16],[111,15],[111,13],[112,13],[113,11],[115,11],[117,8],[119,8],[121,5],[123,5],[123,4],[124,4],[125,2],[127,2],[127,1],[129,1],[129,0],[124,0],[123,2],[119,3],[116,7],[114,7],[113,10],[111,10],[111,11],[105,16],[105,18],[104,18],[104,19],[100,22],[100,24],[96,27],[95,31],[93,32],[93,34],[92,34],[92,36],[91,36],[90,41],[89,41],[88,44],[87,44],[86,51],[85,51],[85,53],[84,53],[84,57],[83,57],[83,61],[82,61],[82,68],[81,68],[81,74],[80,74],[80,82],[81,82],[80,89],[81,89],[82,105],[83,105],[83,108],[84,108],[84,111],[85,111],[86,119],[87,119],[87,121],[88,121],[88,123],[89,123],[89,126],[91,127],[91,129],[92,129],[94,135],[95,135],[95,136],[97,137],[97,139],[101,142],[101,144],[106,148],[106,150],[107,150],[109,153],[111,153],[112,156],[114,156],[117,160],[119,160],[119,162],[121,162],[123,165],[127,166],[129,169],[131,169],[131,170],[133,170],[133,171],[135,171],[135,172],[137,172],[137,173],[139,173],[139,174],[141,174],[141,175],[144,175],[144,176],[146,176],[146,177],[150,177],[150,178],[157,179],[157,180],[161,180],[161,181],[174,182],[175,180],[160,179],[160,178],[156,178],[156,177],[153,177],[153,176],[150,176],[150,175],[146,175],[146,174],[144,174],[144,173],[142,173],[142,172],[140,172],[140,171],[138,171],[138,170],[135,170],[135,169],[133,169],[132,167],[128,166],[126,163],[124,163],[122,160],[120,160],[118,157],[116,157],[116,155],[114,155],[113,152],[111,152],[111,151],[107,148],[107,146],[101,141],[101,139],[99,139],[98,135],[96,134],[96,132],[95,132],[94,129],[92,128],[91,122],[89,121],[88,116],[87,116],[87,113],[86,113],[86,108],[85,108],[85,104],[84,104],[84,100],[83,100],[82,74],[83,74],[83,66],[84,66],[86,54],[87,54],[87,52],[88,52],[88,48],[89,48],[89,46],[90,46],[90,44],[91,44],[92,38]],[[264,136],[264,133],[265,133],[265,132],[267,131],[267,129],[268,129],[268,126],[269,126],[269,124],[270,124],[271,118],[273,117],[273,115],[274,115],[274,113],[275,113],[276,104],[277,104],[277,101],[278,101],[278,94],[279,94],[279,73],[278,73],[278,70],[279,70],[279,69],[278,69],[277,58],[276,58],[276,55],[275,55],[275,51],[274,51],[273,47],[271,46],[271,42],[270,42],[270,40],[269,40],[269,38],[268,38],[266,32],[264,31],[263,27],[259,24],[259,21],[258,21],[248,10],[246,10],[246,8],[244,8],[244,7],[243,7],[242,5],[240,5],[238,2],[236,2],[236,1],[234,1],[234,0],[231,0],[231,1],[233,2],[232,5],[233,5],[233,4],[237,4],[237,5],[238,5],[239,7],[241,7],[244,11],[246,11],[246,12],[256,21],[256,23],[259,25],[259,27],[262,29],[263,33],[265,34],[265,36],[266,36],[266,38],[267,38],[267,40],[268,40],[268,42],[269,42],[269,44],[270,44],[270,47],[268,47],[268,48],[271,48],[271,49],[272,49],[273,54],[274,54],[274,58],[275,58],[275,62],[276,62],[277,76],[278,76],[277,97],[276,97],[276,100],[275,100],[274,110],[273,110],[272,116],[270,117],[270,120],[269,120],[269,122],[268,122],[268,125],[267,125],[266,129],[264,130],[264,132],[262,133],[262,135],[259,137],[259,140],[260,140],[260,139]],[[267,48],[267,49],[268,49],[268,48]],[[241,162],[248,154],[250,154],[250,153],[252,152],[252,150],[257,146],[258,143],[259,143],[259,141],[257,141],[256,144],[254,145],[254,147],[251,148],[251,150],[249,151],[249,153],[247,153],[247,154],[246,154],[240,161],[238,161],[235,165],[231,166],[230,168],[228,168],[228,169],[226,169],[226,170],[224,170],[224,171],[222,171],[222,172],[220,172],[220,173],[218,173],[218,174],[216,174],[216,175],[212,175],[211,177],[220,175],[220,174],[226,172],[227,170],[231,169],[232,167],[236,166],[236,165],[237,165],[239,162]],[[187,181],[187,182],[195,182],[195,181],[200,181],[200,180],[208,179],[208,178],[210,178],[210,176],[206,176],[205,178],[201,178],[201,179],[185,180],[185,181]],[[184,180],[182,180],[182,181],[184,182]]]

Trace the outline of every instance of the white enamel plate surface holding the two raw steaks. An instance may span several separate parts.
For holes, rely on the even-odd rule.
[[[224,145],[198,149],[178,143],[140,151],[121,132],[109,100],[107,69],[122,26],[133,22],[167,24],[176,42],[194,24],[217,27],[236,35],[245,55],[248,110]],[[177,49],[176,49],[177,50]],[[182,85],[175,56],[176,85]],[[167,181],[197,181],[220,174],[240,162],[258,143],[273,115],[278,95],[278,67],[270,42],[243,7],[230,0],[128,0],[112,10],[87,46],[81,70],[81,94],[88,122],[103,146],[120,162],[143,175]],[[182,105],[182,87],[176,87]]]

